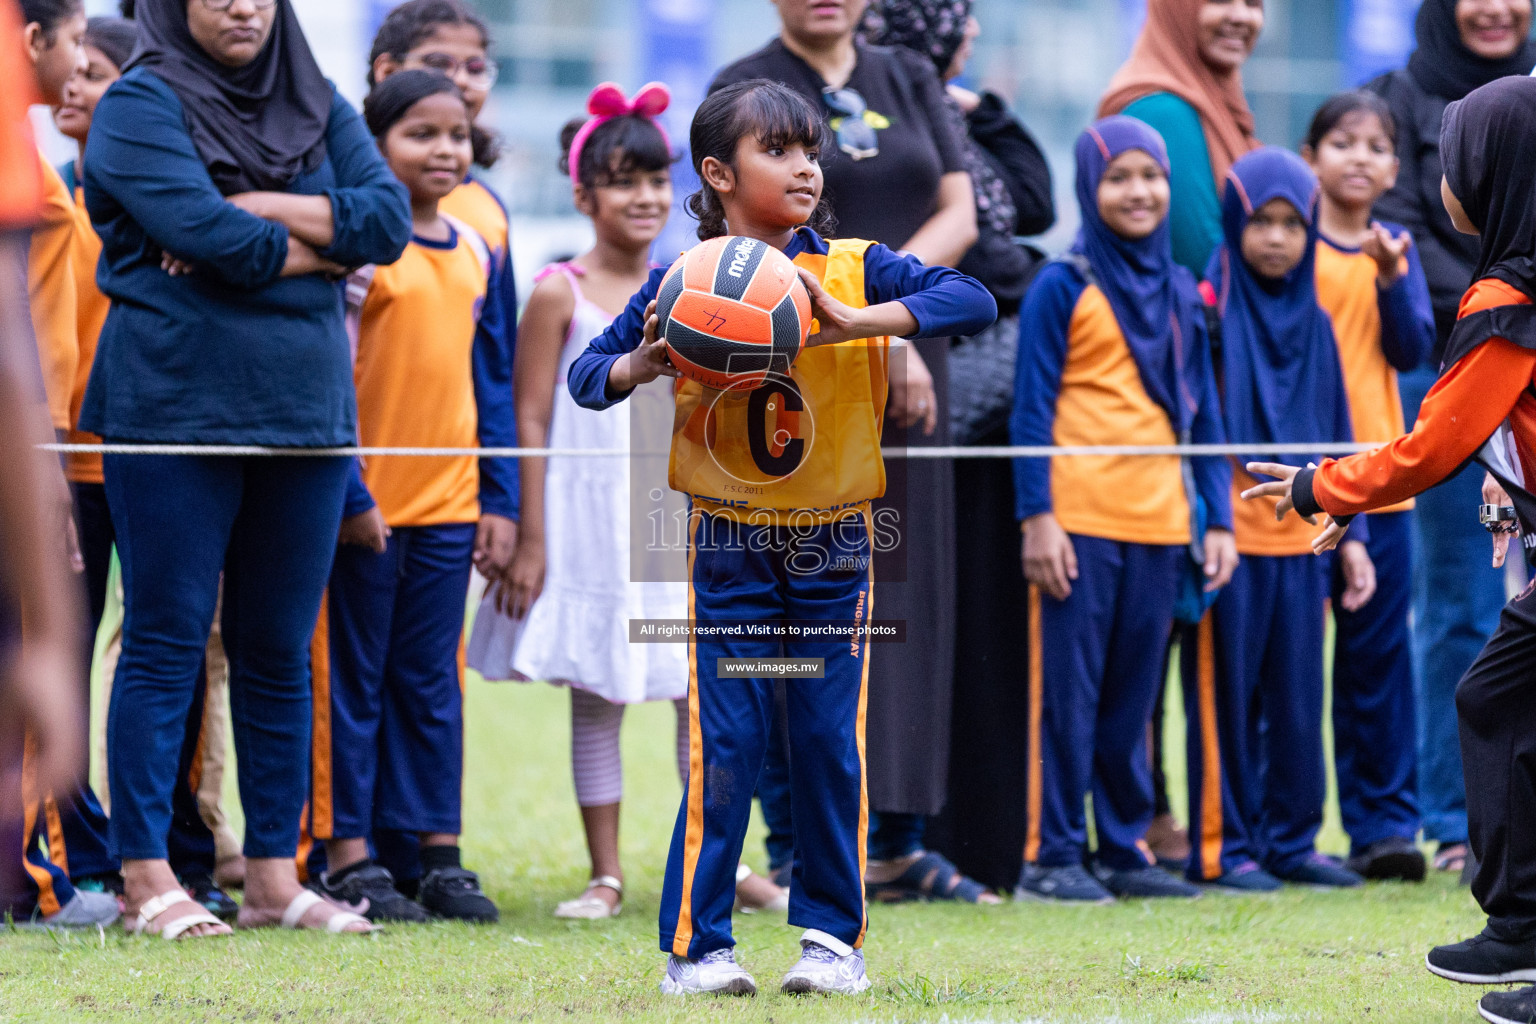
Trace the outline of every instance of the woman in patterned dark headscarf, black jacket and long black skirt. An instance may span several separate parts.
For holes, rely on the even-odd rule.
[[[1018,347],[1018,306],[1040,253],[1018,244],[1055,223],[1051,167],[1023,123],[995,92],[952,83],[965,72],[980,25],[971,0],[879,0],[865,17],[865,38],[905,46],[934,61],[948,86],[949,111],[965,135],[965,164],[975,189],[978,238],[957,264],[997,299],[997,324],[955,338],[949,352],[952,444],[1006,445]],[[994,344],[995,342],[995,344]],[[1012,474],[1001,459],[962,459],[955,488],[955,645],[949,723],[949,785],[943,815],[928,844],[965,875],[1011,889],[1025,843],[1025,751],[1028,725],[1018,680],[1029,648],[1015,628],[1028,613],[1018,570]]]

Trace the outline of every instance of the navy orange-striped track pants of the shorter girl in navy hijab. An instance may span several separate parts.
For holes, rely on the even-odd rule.
[[[1193,881],[1246,863],[1284,875],[1315,852],[1327,571],[1313,554],[1244,554],[1215,606],[1186,631]]]

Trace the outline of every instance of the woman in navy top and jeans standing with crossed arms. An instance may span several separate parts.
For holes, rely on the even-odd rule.
[[[406,192],[321,75],[289,0],[140,0],[141,48],[97,106],[84,193],[112,312],[81,424],[109,442],[347,445],[338,279],[393,263]],[[293,870],[309,639],[350,461],[109,454],[123,656],[108,718],[131,930],[227,933],[181,892],[166,831],[223,573],[246,901],[237,924],[366,930]]]

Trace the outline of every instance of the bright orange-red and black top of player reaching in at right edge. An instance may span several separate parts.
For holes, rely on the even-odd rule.
[[[1484,278],[1467,290],[1459,318],[1525,306],[1525,293]],[[1447,359],[1455,356],[1447,352]],[[1488,336],[1441,373],[1412,433],[1298,473],[1296,511],[1339,517],[1385,508],[1439,484],[1475,456],[1508,485],[1536,482],[1536,350],[1504,336]],[[1525,524],[1527,531],[1533,525]]]

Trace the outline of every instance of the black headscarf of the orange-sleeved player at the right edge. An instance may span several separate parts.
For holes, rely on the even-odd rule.
[[[1445,107],[1445,181],[1481,233],[1471,279],[1536,301],[1536,78],[1499,78]]]

